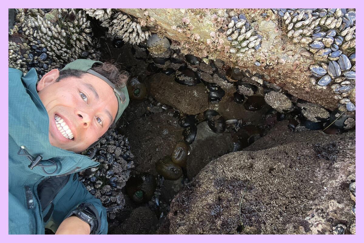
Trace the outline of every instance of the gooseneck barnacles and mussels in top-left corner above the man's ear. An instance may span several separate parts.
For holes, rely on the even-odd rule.
[[[54,68],[79,58],[98,59],[90,21],[85,11],[16,9],[14,28],[9,31],[9,66],[27,73],[34,67],[41,78]]]

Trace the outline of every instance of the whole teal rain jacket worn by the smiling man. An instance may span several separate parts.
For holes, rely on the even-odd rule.
[[[9,234],[44,234],[45,227],[55,232],[79,205],[97,218],[95,234],[107,234],[106,208],[77,175],[99,163],[50,144],[49,118],[36,91],[37,79],[34,68],[25,76],[9,68]],[[40,164],[56,162],[56,172],[49,176],[40,166],[28,168],[28,157],[18,154],[21,146],[33,158],[40,155]],[[44,168],[48,173],[55,169]]]

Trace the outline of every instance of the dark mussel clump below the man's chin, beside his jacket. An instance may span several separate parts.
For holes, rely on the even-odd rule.
[[[134,167],[134,154],[130,150],[128,138],[110,129],[98,145],[83,154],[100,165],[79,172],[79,180],[92,195],[101,200],[108,216],[113,218],[124,207],[122,189],[130,177],[130,169]]]

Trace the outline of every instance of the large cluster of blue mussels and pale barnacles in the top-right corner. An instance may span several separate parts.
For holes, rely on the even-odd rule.
[[[349,99],[355,89],[355,9],[272,9],[281,17],[282,30],[292,42],[314,54],[310,66],[312,84],[326,89],[331,84],[335,98],[354,111]]]

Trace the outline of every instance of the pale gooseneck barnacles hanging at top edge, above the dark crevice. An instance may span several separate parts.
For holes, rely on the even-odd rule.
[[[101,21],[102,27],[108,27],[108,34],[116,39],[122,39],[124,42],[139,44],[148,40],[151,32],[142,30],[146,22],[138,22],[122,12],[114,13],[110,8],[86,8],[86,13]]]

